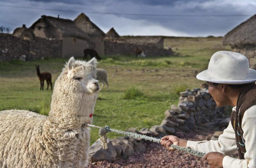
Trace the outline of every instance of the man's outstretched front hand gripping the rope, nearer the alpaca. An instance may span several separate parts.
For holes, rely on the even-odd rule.
[[[160,143],[161,143],[161,145],[165,146],[168,150],[171,150],[171,151],[175,150],[173,148],[169,148],[171,146],[171,144],[179,145],[182,147],[187,146],[187,140],[180,139],[177,136],[173,136],[173,135],[168,135],[168,136],[162,137]]]

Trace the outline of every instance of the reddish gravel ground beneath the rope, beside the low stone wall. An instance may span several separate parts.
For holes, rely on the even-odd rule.
[[[193,141],[210,140],[213,131],[195,130],[186,133],[184,139]],[[146,144],[146,143],[144,143]],[[158,143],[146,144],[145,153],[134,153],[127,159],[116,159],[114,161],[98,161],[89,163],[89,168],[207,168],[210,167],[206,160],[181,151],[168,151]]]

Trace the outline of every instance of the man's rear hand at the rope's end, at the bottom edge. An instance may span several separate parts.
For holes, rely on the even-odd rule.
[[[209,152],[204,155],[204,159],[208,161],[211,168],[222,168],[222,160],[225,155],[220,152]]]

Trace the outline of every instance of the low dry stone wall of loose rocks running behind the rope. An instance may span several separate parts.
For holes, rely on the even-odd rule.
[[[231,110],[230,106],[217,107],[212,96],[209,94],[207,84],[205,88],[187,89],[180,92],[178,105],[171,105],[170,109],[164,112],[165,118],[160,125],[154,125],[150,129],[136,128],[127,129],[127,132],[139,133],[142,135],[161,138],[165,135],[184,137],[184,132],[194,129],[218,129],[223,130],[228,126],[230,117],[225,112]],[[215,132],[212,140],[218,139],[221,131]],[[102,149],[102,143],[98,139],[92,144],[90,158],[92,162],[99,160],[114,160],[116,158],[127,158],[134,152],[144,152],[148,142],[142,139],[130,137],[118,137],[108,139],[108,149]]]

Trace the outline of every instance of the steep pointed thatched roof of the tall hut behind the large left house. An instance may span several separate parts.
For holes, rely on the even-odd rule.
[[[92,23],[89,17],[87,17],[84,13],[78,15],[74,22],[76,23],[76,26],[82,29],[89,36],[106,36],[106,34],[100,30],[96,24]]]

